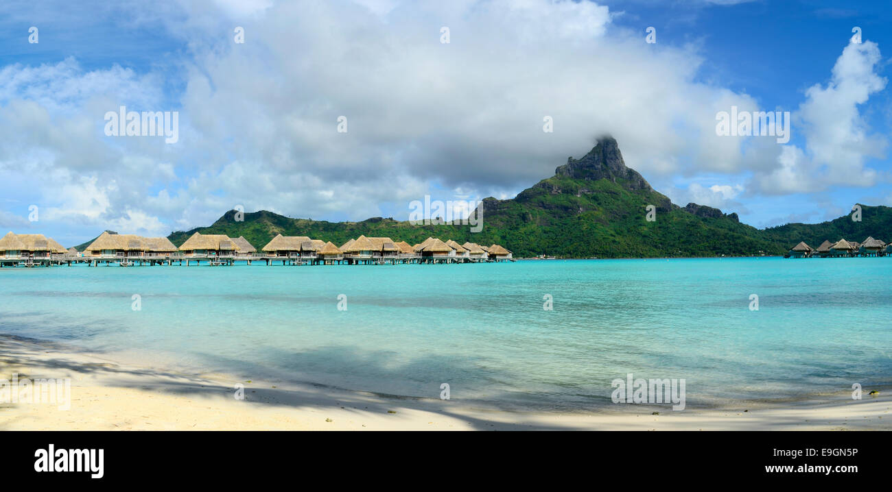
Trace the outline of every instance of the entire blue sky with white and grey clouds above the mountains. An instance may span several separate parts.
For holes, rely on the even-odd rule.
[[[821,222],[892,205],[890,21],[820,0],[7,1],[0,228],[406,220],[425,195],[513,198],[599,135],[681,206]],[[176,115],[176,138],[115,135],[121,106]],[[734,108],[780,111],[765,129],[789,138],[727,135]]]

